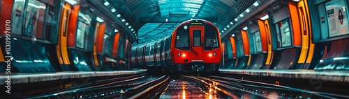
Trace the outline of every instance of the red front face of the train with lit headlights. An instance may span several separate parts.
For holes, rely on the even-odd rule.
[[[185,21],[172,34],[171,57],[174,71],[218,71],[221,53],[218,28],[209,21]]]

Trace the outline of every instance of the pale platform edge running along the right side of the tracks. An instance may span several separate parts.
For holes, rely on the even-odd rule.
[[[235,73],[244,75],[270,76],[280,78],[300,78],[313,80],[326,80],[334,82],[349,82],[349,71],[340,70],[232,70],[220,69],[220,73]]]

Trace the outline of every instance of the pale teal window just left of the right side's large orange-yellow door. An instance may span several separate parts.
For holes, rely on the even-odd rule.
[[[276,35],[278,38],[278,48],[292,45],[292,35],[290,31],[289,19],[284,19],[275,24]]]

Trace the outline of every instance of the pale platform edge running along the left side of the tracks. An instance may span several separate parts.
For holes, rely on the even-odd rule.
[[[137,69],[130,71],[70,71],[70,72],[55,72],[55,73],[11,73],[10,83],[20,84],[28,82],[43,82],[50,80],[64,80],[71,78],[88,78],[88,77],[98,77],[98,76],[112,76],[112,75],[129,75],[144,73],[147,70]],[[0,73],[0,84],[5,84],[8,80],[8,75],[6,73]]]

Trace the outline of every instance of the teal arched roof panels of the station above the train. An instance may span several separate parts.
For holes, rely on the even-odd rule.
[[[226,26],[226,23],[233,20],[232,14],[243,12],[244,8],[250,6],[253,1],[256,0],[124,0],[124,4],[133,13],[133,16],[137,17],[136,19],[139,17],[172,17],[172,15],[217,17],[218,23],[214,24],[218,24],[220,28],[222,26],[219,24],[224,23],[223,26]],[[239,3],[242,4],[240,9],[244,10],[236,10],[236,5]],[[138,30],[138,43],[133,46],[168,36],[180,23],[138,24],[141,24],[142,27]]]

